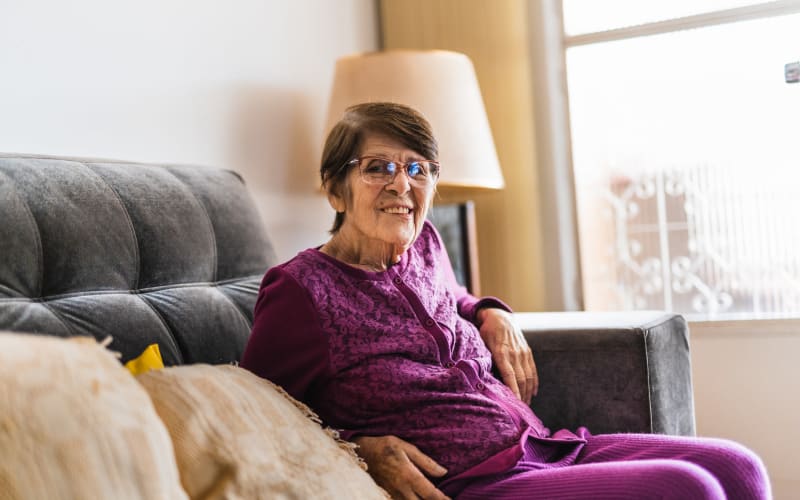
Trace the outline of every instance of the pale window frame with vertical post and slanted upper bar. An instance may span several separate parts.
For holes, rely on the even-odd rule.
[[[584,309],[578,238],[577,204],[572,164],[566,54],[572,47],[626,40],[694,28],[800,12],[800,0],[776,0],[757,5],[649,22],[606,31],[567,35],[562,0],[529,2],[530,47],[534,80],[536,150],[540,181],[542,250],[548,310]],[[719,320],[751,323],[759,320]],[[799,320],[774,320],[778,323]],[[702,323],[716,323],[717,320]],[[759,323],[760,326],[768,326]],[[769,325],[773,325],[769,323]],[[728,325],[730,327],[730,325]],[[730,328],[729,328],[730,329]],[[736,329],[733,329],[736,330]]]

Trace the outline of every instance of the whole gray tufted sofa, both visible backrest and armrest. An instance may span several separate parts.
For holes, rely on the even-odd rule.
[[[239,175],[0,155],[0,330],[113,337],[122,361],[244,350],[270,242]],[[688,330],[662,312],[519,314],[553,429],[694,433]]]

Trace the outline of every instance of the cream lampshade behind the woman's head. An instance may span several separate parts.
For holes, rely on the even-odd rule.
[[[339,59],[325,134],[348,106],[378,101],[411,106],[431,123],[442,166],[439,185],[504,186],[475,68],[466,55],[391,50]]]

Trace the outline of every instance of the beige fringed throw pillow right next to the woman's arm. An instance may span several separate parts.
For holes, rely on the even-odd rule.
[[[138,380],[172,435],[191,498],[386,498],[305,405],[243,368],[180,366]]]

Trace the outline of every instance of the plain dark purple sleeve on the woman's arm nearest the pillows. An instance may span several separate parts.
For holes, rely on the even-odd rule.
[[[328,371],[328,342],[311,297],[280,267],[264,277],[241,366],[301,401]]]

